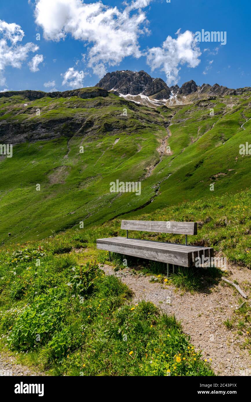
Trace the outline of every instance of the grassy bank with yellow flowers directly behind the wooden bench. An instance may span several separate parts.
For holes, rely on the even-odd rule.
[[[239,266],[251,267],[251,190],[247,189],[236,195],[226,194],[210,200],[199,199],[193,202],[180,203],[177,206],[170,206],[151,213],[144,213],[141,210],[124,215],[124,219],[177,221],[177,222],[198,222],[198,234],[188,236],[188,244],[197,246],[214,247],[219,256],[226,257],[228,263]],[[113,219],[103,225],[92,226],[91,228],[69,229],[64,233],[57,234],[55,242],[72,245],[74,237],[82,237],[90,250],[92,258],[100,258],[104,263],[108,256],[104,252],[96,250],[96,239],[112,236],[126,236],[125,230],[120,229],[121,218]],[[179,234],[164,234],[151,232],[129,231],[129,237],[142,238],[156,241],[168,241],[184,244],[185,236]],[[116,256],[117,265],[123,266],[123,256]],[[130,266],[130,257],[128,265]],[[133,260],[135,262],[136,260]],[[229,269],[227,263],[227,269]],[[138,259],[138,265],[148,272],[160,273],[165,271],[165,264],[144,261]]]

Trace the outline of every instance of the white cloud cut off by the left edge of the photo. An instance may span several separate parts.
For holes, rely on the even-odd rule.
[[[31,42],[25,45],[18,45],[24,35],[20,25],[15,23],[8,24],[0,20],[0,85],[5,84],[6,80],[3,72],[7,66],[21,68],[29,52],[35,52],[39,49],[37,45]]]

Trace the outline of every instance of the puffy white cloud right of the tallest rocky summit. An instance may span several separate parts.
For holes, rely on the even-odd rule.
[[[162,47],[152,47],[148,51],[147,64],[152,71],[160,69],[167,76],[167,85],[177,84],[179,81],[180,65],[187,63],[189,67],[197,67],[201,55],[198,42],[190,31],[180,33],[177,31],[177,39],[168,36]]]

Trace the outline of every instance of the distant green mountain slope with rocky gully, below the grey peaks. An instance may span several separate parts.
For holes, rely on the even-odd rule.
[[[251,117],[250,101],[245,93],[155,110],[114,94],[1,98],[1,141],[14,144],[12,158],[0,157],[2,242],[40,239],[78,228],[80,221],[84,227],[102,224],[118,215],[137,215],[142,207],[153,213],[250,187],[251,159],[239,154],[239,144],[250,138],[250,121],[241,128]],[[170,119],[171,155],[160,160],[157,148]],[[111,193],[109,183],[117,179],[141,181],[141,195]]]

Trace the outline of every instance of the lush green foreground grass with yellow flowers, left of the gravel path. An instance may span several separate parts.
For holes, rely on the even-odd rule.
[[[47,375],[214,375],[174,316],[45,244],[0,254],[1,347],[19,362]]]

